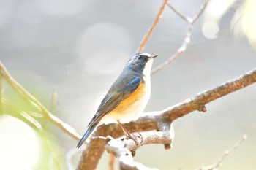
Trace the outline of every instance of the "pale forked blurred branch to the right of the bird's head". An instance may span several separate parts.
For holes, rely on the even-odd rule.
[[[174,12],[176,12],[181,18],[183,18],[184,20],[187,20],[187,22],[189,23],[188,28],[187,28],[187,32],[185,34],[184,37],[184,41],[181,44],[181,47],[178,48],[178,50],[176,50],[176,53],[174,53],[172,56],[170,56],[170,58],[167,59],[167,61],[165,61],[164,63],[161,63],[159,66],[157,66],[156,68],[154,68],[151,72],[151,75],[156,74],[157,72],[159,72],[161,69],[164,69],[167,65],[169,65],[170,63],[172,63],[174,60],[176,60],[176,58],[178,58],[179,56],[181,56],[185,50],[187,50],[187,46],[190,43],[190,39],[191,39],[191,35],[192,35],[192,30],[194,28],[195,22],[197,21],[197,19],[200,17],[200,15],[203,13],[203,11],[206,9],[207,4],[210,2],[211,0],[206,0],[204,1],[204,3],[201,5],[199,11],[192,17],[185,17],[184,15],[182,15],[180,12],[178,12],[172,5],[168,4],[169,7],[171,7],[172,9],[175,9]]]

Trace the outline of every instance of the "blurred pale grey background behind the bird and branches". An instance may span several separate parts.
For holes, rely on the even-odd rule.
[[[171,1],[184,15],[202,0]],[[80,134],[124,64],[136,52],[162,1],[0,0],[0,60],[26,90]],[[165,109],[256,66],[254,0],[212,0],[197,20],[187,51],[152,77],[145,112]],[[181,45],[187,23],[169,7],[146,45],[159,54],[154,66]],[[44,119],[35,128],[20,112],[37,115],[24,98],[1,81],[9,101],[0,115],[0,169],[73,169],[77,141]],[[53,90],[56,106],[51,109]],[[256,169],[256,85],[206,105],[173,123],[171,150],[143,146],[135,161],[158,169],[195,169],[213,164],[247,135],[220,169]],[[151,154],[154,152],[154,154]],[[150,156],[148,156],[150,155]],[[117,161],[116,161],[117,162]],[[108,154],[98,169],[107,169]]]

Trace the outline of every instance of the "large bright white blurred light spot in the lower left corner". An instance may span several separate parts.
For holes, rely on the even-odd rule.
[[[40,155],[37,133],[26,123],[11,116],[0,117],[1,170],[34,169]]]

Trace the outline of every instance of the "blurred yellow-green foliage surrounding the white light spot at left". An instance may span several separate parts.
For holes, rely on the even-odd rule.
[[[3,71],[3,69],[1,69],[1,71]],[[7,75],[7,72],[4,74],[1,72],[1,75]],[[9,74],[7,76],[8,77],[0,77],[1,115],[7,114],[16,117],[27,125],[30,125],[31,128],[37,132],[40,155],[37,166],[34,167],[34,169],[66,169],[64,150],[61,148],[56,138],[48,131],[47,116],[45,116],[43,112],[40,112],[40,107],[31,100],[31,96],[24,95],[27,93],[26,90],[18,85],[15,80],[10,79]],[[34,99],[37,100],[36,98]],[[10,131],[8,133],[12,132]],[[26,136],[24,136],[24,138],[26,138]],[[20,143],[17,142],[17,144]],[[20,147],[23,147],[22,144],[20,144]],[[26,153],[23,154],[26,155]],[[26,158],[26,156],[24,156],[24,158]]]

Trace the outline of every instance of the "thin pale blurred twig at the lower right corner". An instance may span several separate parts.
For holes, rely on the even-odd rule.
[[[236,142],[236,144],[234,144],[232,147],[230,147],[229,150],[226,150],[224,152],[224,155],[222,155],[222,158],[220,158],[219,161],[217,161],[217,163],[214,163],[214,165],[202,166],[195,170],[217,170],[217,168],[219,168],[221,163],[223,163],[223,161],[225,161],[225,158],[227,158],[227,156],[230,155],[231,152],[236,150],[246,140],[246,138],[247,138],[247,136],[244,134],[242,139],[240,141]]]

